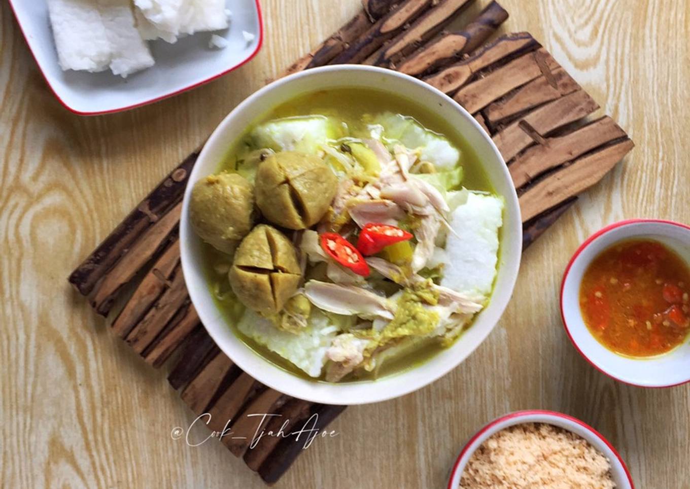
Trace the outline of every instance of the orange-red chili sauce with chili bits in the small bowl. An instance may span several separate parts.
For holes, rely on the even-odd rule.
[[[690,270],[651,239],[616,243],[584,272],[580,310],[591,334],[620,355],[651,357],[676,348],[690,332]]]

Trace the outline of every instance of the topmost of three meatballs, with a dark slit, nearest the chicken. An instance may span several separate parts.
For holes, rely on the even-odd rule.
[[[257,206],[268,221],[288,229],[313,226],[335,197],[337,177],[312,154],[271,154],[257,170]]]

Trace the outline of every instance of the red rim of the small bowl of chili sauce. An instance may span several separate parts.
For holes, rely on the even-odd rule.
[[[563,272],[563,278],[561,280],[561,286],[560,286],[560,294],[559,294],[559,307],[560,307],[560,315],[561,315],[561,321],[563,323],[563,328],[566,332],[566,335],[568,335],[571,343],[575,347],[575,350],[580,353],[580,355],[589,363],[591,366],[593,366],[596,370],[599,370],[602,372],[602,374],[607,375],[608,377],[611,377],[611,379],[614,379],[616,381],[622,382],[624,384],[627,384],[628,386],[633,386],[633,387],[641,387],[641,388],[647,388],[647,389],[664,389],[664,388],[671,388],[671,387],[677,387],[677,386],[682,386],[686,383],[690,382],[690,379],[684,380],[682,382],[677,382],[677,383],[671,383],[671,384],[654,384],[654,385],[645,385],[642,383],[635,383],[631,381],[626,381],[623,379],[620,379],[616,377],[615,375],[612,375],[611,373],[607,372],[600,366],[598,366],[594,361],[589,358],[586,353],[580,348],[580,345],[575,341],[573,338],[573,335],[570,332],[570,328],[568,326],[568,322],[565,319],[565,312],[564,312],[564,307],[563,307],[563,302],[564,302],[564,291],[565,291],[565,283],[566,279],[568,278],[568,275],[571,271],[571,268],[573,267],[573,264],[575,263],[575,260],[578,259],[578,257],[582,254],[586,248],[589,248],[593,241],[598,239],[599,237],[602,237],[604,234],[607,234],[615,229],[622,228],[624,226],[629,226],[631,224],[639,224],[639,223],[654,223],[654,224],[662,224],[662,225],[667,225],[667,226],[676,226],[678,228],[683,228],[685,230],[690,231],[690,226],[687,224],[679,223],[676,221],[669,221],[668,219],[624,219],[623,221],[617,221],[615,223],[609,224],[609,226],[605,226],[604,228],[598,230],[594,234],[592,234],[589,238],[587,238],[579,247],[577,250],[575,250],[575,253],[573,253],[573,256],[571,257],[570,261],[568,262],[568,266],[566,266],[565,271]]]

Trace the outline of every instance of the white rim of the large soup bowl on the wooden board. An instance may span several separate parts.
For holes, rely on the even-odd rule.
[[[224,132],[226,126],[228,126],[228,121],[231,121],[233,117],[237,117],[237,114],[242,114],[244,110],[248,106],[251,106],[252,103],[254,103],[257,99],[260,97],[264,96],[264,94],[270,92],[270,90],[273,90],[275,88],[278,88],[278,86],[284,84],[284,83],[289,83],[291,81],[295,81],[297,79],[300,79],[302,77],[314,77],[314,76],[319,76],[320,74],[327,74],[328,72],[348,72],[348,71],[357,71],[357,72],[370,72],[371,75],[379,75],[379,76],[385,76],[385,77],[391,77],[391,79],[397,79],[400,81],[401,79],[404,80],[405,83],[410,83],[411,85],[415,86],[415,90],[426,90],[427,92],[431,92],[435,97],[446,101],[446,103],[449,103],[449,105],[457,112],[458,117],[462,117],[473,130],[477,132],[477,134],[480,134],[478,137],[482,138],[484,142],[488,145],[488,151],[493,154],[493,157],[495,158],[495,161],[498,161],[502,163],[501,168],[501,175],[502,177],[506,177],[509,179],[509,173],[507,166],[505,164],[505,161],[498,151],[497,147],[495,146],[495,143],[489,137],[484,129],[480,126],[480,124],[476,121],[474,117],[472,117],[469,112],[467,112],[462,106],[460,106],[459,103],[454,101],[451,97],[448,95],[444,94],[440,90],[437,90],[437,88],[434,88],[433,86],[428,85],[428,83],[424,83],[424,81],[421,81],[419,79],[415,79],[414,77],[410,77],[409,75],[402,74],[400,72],[395,72],[393,70],[388,70],[386,68],[380,68],[380,67],[375,67],[375,66],[362,66],[362,65],[336,65],[336,66],[324,66],[320,68],[312,68],[310,70],[304,70],[302,72],[297,72],[294,74],[290,74],[288,77],[283,77],[280,79],[277,79],[273,81],[272,83],[269,83],[267,86],[264,86],[263,88],[260,88],[253,94],[250,94],[249,97],[247,97],[244,101],[239,103],[238,106],[236,106],[233,110],[231,110],[228,115],[219,123],[217,128],[213,131],[213,133],[210,135],[208,141],[206,141],[206,144],[204,145],[204,148],[201,150],[201,153],[199,154],[199,157],[197,159],[197,162],[199,161],[204,161],[206,158],[206,154],[210,153],[213,151],[213,148],[216,148],[221,141],[224,141],[221,139],[221,133]],[[345,81],[342,83],[342,86],[348,86],[348,83]],[[356,86],[356,85],[355,85]],[[402,95],[404,97],[404,95]],[[408,97],[410,98],[410,97]],[[286,99],[287,100],[287,99]],[[239,135],[239,134],[238,134]],[[227,144],[226,142],[223,142],[223,144]],[[198,163],[195,165],[195,168],[192,170],[192,174],[190,174],[190,180],[193,179],[193,175],[197,171],[197,168],[201,168]],[[501,177],[495,177],[494,180],[497,181],[497,179],[500,179]],[[509,183],[509,180],[504,181],[504,183],[507,185]],[[190,234],[190,229],[188,228],[189,223],[188,223],[188,195],[190,194],[190,186],[188,186],[188,189],[185,192],[184,195],[184,201],[183,201],[183,208],[182,208],[182,213],[181,213],[181,227],[180,227],[180,235],[181,235],[181,263],[182,263],[182,269],[183,272],[185,272],[186,277],[188,277],[188,274],[186,272],[193,272],[197,271],[196,267],[189,261],[190,257],[189,255],[189,246],[190,242],[186,238]],[[395,399],[397,397],[402,397],[404,395],[407,395],[411,392],[414,392],[415,390],[419,390],[423,388],[424,386],[428,386],[430,383],[433,383],[437,379],[440,379],[441,377],[444,377],[444,375],[448,374],[453,370],[454,368],[457,368],[457,366],[466,359],[466,357],[469,357],[472,352],[474,352],[478,346],[488,337],[495,326],[497,326],[497,323],[500,321],[500,318],[503,315],[503,312],[505,308],[507,307],[512,295],[513,295],[513,290],[515,289],[515,283],[517,281],[517,274],[520,270],[520,261],[522,258],[522,254],[520,252],[521,250],[521,245],[522,245],[522,226],[520,225],[520,222],[522,219],[520,218],[520,205],[519,202],[517,201],[517,192],[515,191],[515,188],[513,187],[512,183],[510,183],[509,188],[512,189],[512,192],[507,192],[504,197],[506,207],[504,210],[504,226],[506,225],[506,216],[509,214],[506,214],[506,212],[510,212],[511,215],[511,221],[513,219],[516,221],[513,223],[513,226],[511,226],[510,232],[506,231],[504,232],[504,241],[502,241],[502,246],[507,248],[508,250],[514,251],[514,256],[510,254],[508,255],[500,255],[499,260],[501,261],[501,256],[503,256],[503,263],[501,263],[501,270],[502,274],[504,275],[504,285],[503,289],[501,291],[500,298],[501,300],[499,301],[499,295],[496,294],[496,291],[494,290],[492,292],[491,296],[491,302],[490,305],[493,304],[493,312],[491,312],[491,315],[495,315],[496,319],[493,321],[493,324],[491,324],[491,328],[486,328],[486,331],[482,331],[482,335],[478,336],[476,339],[473,341],[477,341],[476,345],[473,345],[471,349],[469,349],[466,354],[459,355],[462,359],[460,361],[447,361],[445,363],[442,363],[441,366],[437,366],[437,368],[432,369],[428,372],[428,375],[424,377],[424,379],[411,379],[411,381],[406,382],[406,383],[400,383],[397,382],[397,385],[394,386],[393,388],[382,388],[382,387],[387,387],[384,385],[383,381],[384,379],[378,379],[378,383],[375,381],[368,382],[371,383],[371,386],[376,386],[377,388],[373,387],[368,387],[368,388],[362,388],[362,390],[367,390],[369,392],[366,392],[366,395],[363,395],[362,392],[359,392],[358,388],[352,387],[349,390],[347,389],[347,386],[361,386],[361,383],[326,383],[327,386],[335,389],[337,389],[338,392],[333,392],[333,390],[328,390],[327,388],[324,388],[323,390],[320,390],[319,392],[316,392],[314,388],[311,389],[306,389],[307,392],[299,392],[299,389],[297,388],[286,388],[283,386],[281,383],[279,383],[279,379],[275,379],[270,377],[270,371],[267,374],[266,372],[253,372],[252,368],[250,369],[244,369],[248,375],[252,375],[253,377],[257,378],[259,381],[264,383],[266,386],[273,388],[275,390],[279,390],[280,392],[286,392],[286,390],[289,390],[290,392],[287,392],[289,395],[292,395],[293,397],[297,397],[299,399],[304,399],[307,401],[313,401],[317,403],[330,403],[330,404],[335,404],[335,405],[346,405],[346,406],[353,406],[357,404],[366,404],[366,403],[375,403],[375,402],[380,402],[380,401],[386,401],[388,399]],[[520,222],[517,222],[520,221]],[[514,229],[513,229],[514,228]],[[186,278],[187,280],[187,278]],[[193,289],[193,288],[192,288]],[[190,298],[192,299],[193,303],[195,302],[195,296],[196,292],[195,290],[190,290]],[[485,308],[484,310],[488,309]],[[217,309],[217,307],[216,307]],[[197,312],[199,314],[199,317],[201,318],[201,323],[204,324],[204,328],[206,328],[208,334],[210,337],[216,341],[217,337],[217,331],[213,331],[214,328],[210,328],[206,326],[206,323],[204,323],[204,317],[206,316],[206,313],[208,312],[208,308],[197,308]],[[210,317],[208,317],[210,319]],[[213,322],[213,321],[212,321]],[[221,345],[221,343],[223,343]],[[228,353],[225,351],[228,348],[225,348],[227,345],[225,342],[218,343],[218,346],[221,351]],[[245,346],[245,348],[248,348]],[[451,347],[452,348],[452,347]],[[230,350],[234,350],[233,348],[230,348]],[[462,352],[461,352],[462,353]],[[235,362],[235,359],[232,358],[231,355],[228,355],[230,359]],[[264,358],[265,360],[265,358]],[[266,360],[268,361],[268,360]],[[433,358],[431,359],[433,361]],[[237,366],[242,368],[244,364],[244,359],[242,359],[239,363],[235,362]],[[240,364],[242,363],[242,364]],[[271,369],[278,369],[284,372],[283,369],[279,368],[278,366],[275,366],[272,362],[268,361],[270,363],[270,368]],[[391,375],[387,377],[400,377],[400,375],[406,375],[408,372],[415,372],[418,370],[418,368],[424,368],[428,364],[427,362],[422,363],[420,366],[415,366],[414,368],[405,370],[404,372],[400,372],[400,374],[397,375]],[[273,372],[275,373],[275,372]],[[290,377],[297,377],[295,376],[292,372],[286,372],[286,375],[290,375]],[[310,383],[318,383],[315,380],[308,380]]]

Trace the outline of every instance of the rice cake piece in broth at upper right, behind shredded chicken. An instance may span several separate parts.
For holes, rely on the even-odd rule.
[[[424,128],[413,117],[383,112],[372,122],[368,126],[371,137],[393,139],[411,150],[419,149],[420,160],[433,163],[439,170],[453,170],[460,162],[460,150],[441,134]]]

